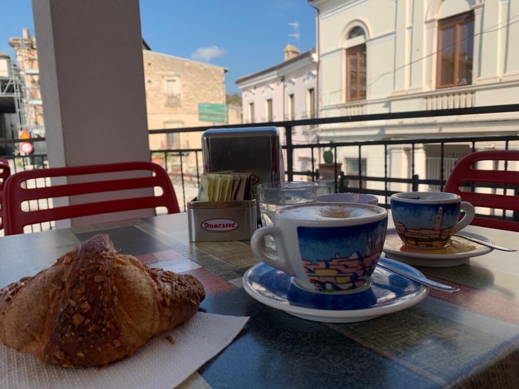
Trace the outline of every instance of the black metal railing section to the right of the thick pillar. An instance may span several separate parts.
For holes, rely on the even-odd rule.
[[[440,190],[443,190],[443,186],[446,182],[449,172],[445,171],[444,159],[445,159],[445,145],[468,143],[471,145],[471,151],[476,150],[477,143],[481,142],[498,142],[498,147],[508,149],[510,142],[519,141],[517,135],[472,135],[472,136],[450,136],[450,137],[429,137],[429,138],[400,138],[400,139],[385,139],[376,141],[351,141],[351,142],[336,142],[333,144],[328,143],[308,143],[302,145],[295,145],[292,142],[292,130],[296,126],[318,126],[319,124],[331,124],[331,123],[349,123],[359,121],[375,121],[375,120],[394,120],[394,119],[409,119],[409,118],[426,118],[426,117],[440,117],[440,116],[463,116],[463,115],[481,115],[481,114],[495,114],[504,112],[519,112],[519,104],[509,105],[496,105],[496,106],[484,106],[484,107],[470,107],[470,108],[456,108],[456,109],[439,109],[439,110],[427,110],[427,111],[412,111],[412,112],[397,112],[397,113],[385,113],[385,114],[370,114],[370,115],[357,115],[357,116],[343,116],[333,118],[317,118],[317,119],[304,119],[304,120],[290,120],[290,121],[275,121],[275,122],[264,122],[264,123],[247,123],[247,124],[225,124],[222,126],[201,126],[201,127],[190,127],[180,129],[164,129],[164,130],[150,130],[150,134],[173,134],[173,133],[189,133],[189,132],[203,132],[208,129],[229,129],[229,128],[242,128],[242,127],[277,127],[284,128],[284,145],[285,150],[285,162],[286,162],[286,177],[288,180],[293,180],[294,176],[307,176],[311,180],[319,179],[319,171],[316,169],[316,149],[318,155],[321,154],[321,149],[324,147],[332,147],[334,150],[334,166],[335,174],[333,179],[333,190],[335,192],[358,192],[358,193],[371,193],[373,195],[384,196],[385,201],[382,203],[387,206],[388,198],[392,191],[388,188],[391,183],[395,184],[407,184],[409,190],[418,190],[419,185],[431,185],[439,186]],[[383,126],[381,126],[383,127]],[[355,129],[344,129],[344,131],[354,131]],[[412,133],[414,129],[410,128],[409,133]],[[438,178],[419,177],[415,174],[415,147],[417,144],[437,144],[440,147],[440,174]],[[411,166],[409,177],[390,177],[388,175],[388,146],[390,145],[409,145],[411,150]],[[367,146],[384,146],[384,174],[381,176],[365,176],[362,174],[362,148]],[[344,174],[338,168],[337,164],[337,149],[342,147],[357,147],[358,148],[358,172],[357,174]],[[311,169],[308,171],[294,171],[293,167],[293,154],[294,150],[298,149],[310,149],[310,161]],[[197,184],[199,180],[199,154],[201,149],[181,149],[181,148],[170,148],[170,149],[159,149],[151,150],[152,153],[160,153],[164,155],[164,159],[167,160],[168,156],[176,157],[180,159],[180,164],[183,164],[183,158],[188,152],[195,153],[196,160],[196,178]],[[167,163],[166,163],[167,167]],[[507,164],[505,164],[507,168]],[[181,169],[182,170],[182,169]],[[182,194],[185,199],[185,182],[184,173],[181,171],[180,180],[182,184]],[[346,185],[350,180],[356,180],[358,186],[349,187]],[[384,190],[368,188],[367,183],[369,182],[383,182]],[[499,186],[492,185],[479,185],[478,187],[494,188],[499,189]],[[505,190],[507,188],[504,188]],[[185,206],[185,205],[184,205]]]

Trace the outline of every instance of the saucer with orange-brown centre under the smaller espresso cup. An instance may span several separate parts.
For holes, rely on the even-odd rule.
[[[462,231],[467,237],[494,243],[490,239],[473,232]],[[448,247],[438,250],[427,250],[404,246],[397,230],[390,228],[386,233],[383,251],[386,257],[407,263],[411,266],[425,266],[429,268],[448,268],[467,263],[471,257],[488,254],[493,248],[473,243],[467,239],[452,237]]]

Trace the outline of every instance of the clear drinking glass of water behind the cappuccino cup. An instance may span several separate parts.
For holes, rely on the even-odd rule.
[[[257,200],[263,227],[274,225],[274,214],[286,205],[316,201],[317,183],[285,181],[281,183],[260,184],[257,186]],[[265,245],[276,249],[274,238],[265,237]]]

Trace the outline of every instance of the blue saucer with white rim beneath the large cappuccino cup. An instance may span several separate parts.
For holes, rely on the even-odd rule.
[[[404,263],[391,262],[422,275]],[[429,293],[427,286],[378,267],[371,277],[371,285],[357,293],[311,293],[293,285],[290,275],[263,262],[243,275],[243,288],[251,297],[269,307],[304,319],[329,323],[361,322],[397,312],[417,304]]]

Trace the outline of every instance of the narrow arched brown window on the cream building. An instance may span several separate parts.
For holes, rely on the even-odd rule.
[[[359,36],[366,37],[362,27],[353,27],[348,40]],[[348,41],[347,41],[348,42]],[[366,45],[346,49],[346,101],[366,99]]]

